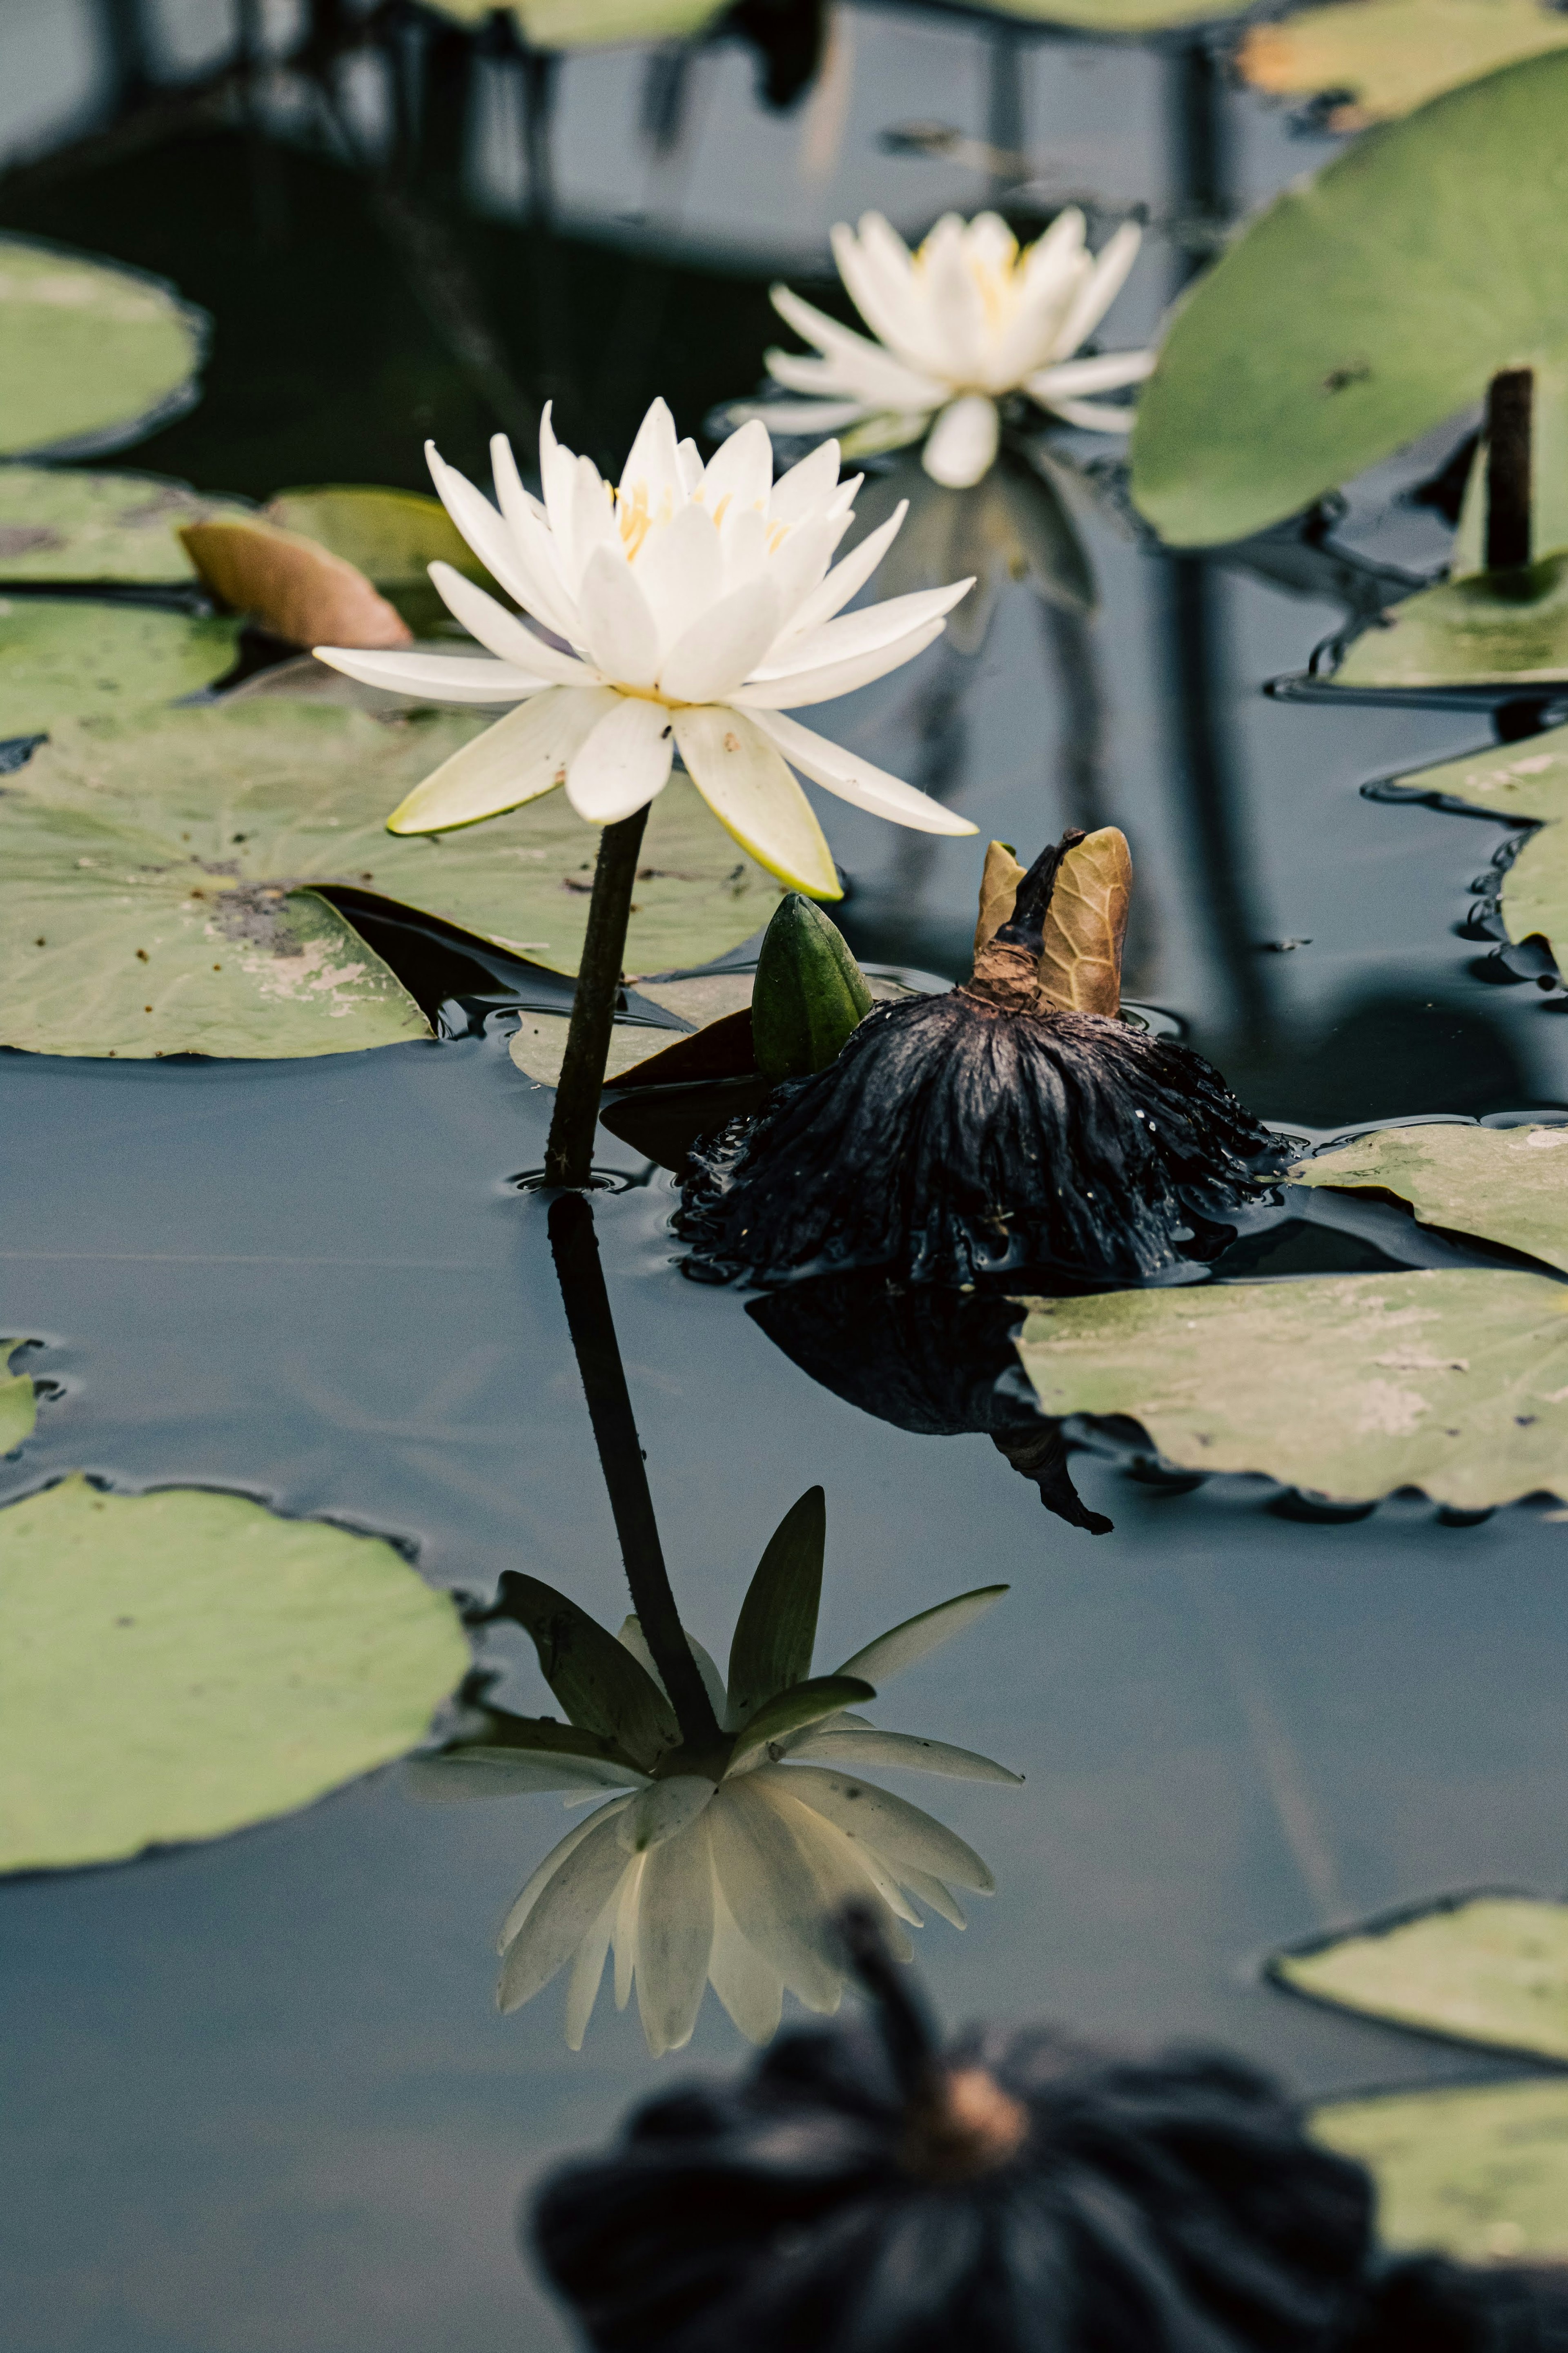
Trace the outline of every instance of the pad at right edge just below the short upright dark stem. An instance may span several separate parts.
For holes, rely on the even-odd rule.
[[[1490,687],[1568,680],[1568,553],[1472,572],[1389,605],[1333,673],[1338,687]]]

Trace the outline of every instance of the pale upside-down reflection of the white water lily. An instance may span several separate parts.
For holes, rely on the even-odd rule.
[[[764,1572],[766,1558],[759,1579]],[[903,1922],[922,1925],[914,1901],[964,1927],[952,1887],[990,1892],[990,1868],[931,1814],[865,1781],[863,1767],[1006,1784],[1018,1784],[1020,1774],[969,1748],[879,1732],[844,1708],[842,1685],[851,1678],[865,1697],[865,1685],[879,1687],[961,1633],[1004,1591],[961,1593],[870,1642],[837,1675],[797,1678],[762,1697],[755,1612],[750,1649],[743,1612],[729,1685],[691,1642],[726,1737],[729,1755],[715,1760],[719,1779],[682,1769],[684,1753],[668,1751],[663,1760],[649,1753],[646,1711],[628,1711],[621,1741],[585,1732],[576,1758],[559,1748],[562,1737],[571,1739],[567,1727],[550,1725],[548,1751],[470,1746],[411,1765],[425,1798],[564,1791],[567,1805],[581,1805],[616,1791],[552,1847],[505,1915],[501,2009],[529,2002],[571,1965],[567,2042],[581,2049],[614,1955],[616,2002],[625,2007],[637,1986],[654,2057],[691,2040],[710,1984],[741,2033],[766,2042],[785,1991],[809,2009],[839,2007],[846,1967],[835,1913],[846,1899],[872,1904],[905,1958],[912,1946]],[[592,1633],[609,1642],[599,1628]],[[656,1682],[637,1619],[625,1621],[618,1640]],[[811,1628],[806,1666],[809,1649]],[[557,1697],[562,1689],[557,1680]],[[536,1732],[545,1737],[543,1727]],[[527,1739],[527,1732],[515,1737]],[[642,1755],[632,1762],[637,1741]]]

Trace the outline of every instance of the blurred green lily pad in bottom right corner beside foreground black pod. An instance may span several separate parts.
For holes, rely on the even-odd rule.
[[[1387,2247],[1441,2247],[1467,2264],[1568,2261],[1561,2078],[1333,2101],[1312,2132],[1371,2167]]]

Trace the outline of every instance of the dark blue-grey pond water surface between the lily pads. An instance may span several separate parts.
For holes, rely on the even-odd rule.
[[[160,271],[214,313],[202,405],[129,461],[254,496],[418,485],[428,431],[473,468],[505,402],[527,414],[545,391],[604,459],[654,391],[696,424],[757,381],[766,280],[780,264],[820,275],[832,219],[875,198],[924,226],[987,198],[973,169],[889,155],[879,134],[907,120],[976,139],[1013,125],[1058,191],[1150,207],[1119,341],[1185,275],[1194,205],[1253,202],[1331,151],[1225,89],[1194,129],[1204,80],[1180,52],[856,9],[827,165],[799,115],[757,106],[738,47],[696,61],[658,151],[649,87],[665,85],[616,52],[557,80],[557,228],[527,221],[501,82],[458,113],[468,144],[442,146],[451,125],[430,106],[407,184],[433,224],[421,245],[390,184],[331,153],[289,87],[249,125],[172,94],[223,52],[226,12],[12,0],[5,16],[0,226]],[[113,26],[141,26],[141,49],[125,35],[110,56]],[[527,96],[520,78],[505,92]],[[374,155],[388,118],[376,89],[350,99]],[[451,282],[458,264],[477,344],[430,292],[430,268]],[[1342,541],[1368,562],[1439,562],[1441,522],[1396,494],[1455,433],[1356,485]],[[980,840],[1121,824],[1140,892],[1128,995],[1173,1014],[1267,1118],[1331,1132],[1568,1108],[1559,1000],[1497,986],[1486,941],[1458,929],[1495,828],[1361,798],[1486,741],[1486,715],[1267,699],[1342,602],[1244,562],[1171,560],[1110,499],[1084,494],[1074,522],[1093,619],[1004,584],[980,652],[943,647],[839,706],[844,739],[940,788]],[[839,802],[823,816],[853,946],[961,972],[980,845]],[[61,1386],[0,1492],[78,1466],[127,1489],[235,1487],[407,1539],[430,1579],[473,1595],[527,1567],[616,1624],[545,1207],[508,1184],[543,1158],[550,1096],[512,1071],[503,1031],[299,1064],[0,1056],[0,1327],[49,1334],[35,1369]],[[994,1861],[999,1892],[964,1937],[933,1922],[919,1939],[943,2009],[1215,2035],[1309,2092],[1465,2075],[1460,2052],[1291,2002],[1258,1962],[1441,1889],[1561,1885],[1561,1515],[1443,1525],[1396,1497],[1314,1522],[1260,1480],[1180,1492],[1079,1454],[1084,1499],[1114,1520],[1093,1539],[1048,1518],[985,1435],[914,1438],[858,1412],[741,1297],[684,1282],[668,1179],[602,1146],[637,1179],[595,1219],[693,1631],[726,1638],[769,1529],[813,1480],[820,1654],[950,1591],[1013,1584],[889,1711],[1027,1774],[1016,1793],[945,1786],[943,1819]],[[1265,1264],[1380,1261],[1286,1228]],[[494,1657],[508,1697],[538,1706],[522,1654]],[[423,1809],[388,1769],[240,1838],[0,1889],[7,2344],[564,2344],[515,2252],[522,2186],[675,2068],[733,2066],[743,2045],[712,1998],[691,2052],[661,2066],[604,2005],[581,2057],[557,1993],[496,2017],[491,1929],[555,1835],[550,1800]]]

